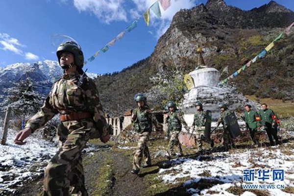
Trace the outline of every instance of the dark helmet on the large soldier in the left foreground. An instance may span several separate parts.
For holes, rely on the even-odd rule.
[[[64,43],[61,43],[56,51],[56,55],[58,57],[58,61],[60,63],[60,56],[61,53],[68,52],[72,53],[74,56],[74,64],[80,68],[84,66],[84,55],[82,52],[81,47],[74,41],[67,41]]]

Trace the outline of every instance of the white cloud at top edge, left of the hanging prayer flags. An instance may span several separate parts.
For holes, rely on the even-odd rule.
[[[127,21],[127,13],[123,8],[125,0],[73,0],[78,11],[90,11],[101,22]]]

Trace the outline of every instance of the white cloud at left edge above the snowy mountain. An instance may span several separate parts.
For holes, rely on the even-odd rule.
[[[2,45],[2,47],[1,47]],[[32,53],[24,53],[20,47],[25,48],[24,44],[21,44],[18,39],[10,37],[7,33],[0,33],[0,49],[4,51],[11,51],[17,55],[24,56],[27,60],[37,60],[39,56]]]

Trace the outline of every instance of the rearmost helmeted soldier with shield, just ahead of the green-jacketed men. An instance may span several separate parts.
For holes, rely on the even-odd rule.
[[[217,121],[217,127],[218,128],[220,126],[220,124],[222,124],[223,126],[223,146],[225,150],[231,149],[231,147],[236,148],[234,141],[232,139],[232,136],[230,134],[230,131],[228,129],[228,125],[225,121],[225,117],[230,113],[230,111],[228,110],[227,106],[223,103],[219,104],[219,108],[221,110],[221,115]]]

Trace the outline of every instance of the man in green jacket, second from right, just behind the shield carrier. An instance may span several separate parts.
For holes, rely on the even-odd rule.
[[[245,105],[244,120],[246,127],[249,130],[252,141],[258,145],[258,140],[255,138],[256,130],[260,128],[260,117],[256,111],[251,110],[251,105]]]

